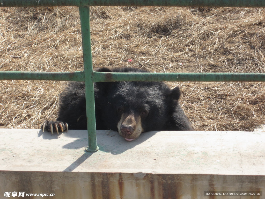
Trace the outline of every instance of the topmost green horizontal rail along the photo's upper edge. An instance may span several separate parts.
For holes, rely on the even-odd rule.
[[[191,6],[265,7],[265,0],[0,0],[0,7],[29,6]]]

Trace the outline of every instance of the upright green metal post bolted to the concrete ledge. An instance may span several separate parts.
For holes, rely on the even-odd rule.
[[[92,53],[90,41],[89,7],[79,7],[82,46],[83,46],[83,64],[85,73],[85,91],[86,91],[86,119],[88,132],[87,152],[98,151],[96,139],[96,118],[95,118],[95,99],[93,84]]]

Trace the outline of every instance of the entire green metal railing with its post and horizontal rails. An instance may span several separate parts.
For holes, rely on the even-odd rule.
[[[84,70],[77,72],[0,71],[0,80],[85,81],[88,152],[96,152],[94,82],[104,81],[265,81],[265,73],[105,73],[94,72],[90,42],[89,6],[265,7],[265,0],[0,0],[0,7],[78,6]]]

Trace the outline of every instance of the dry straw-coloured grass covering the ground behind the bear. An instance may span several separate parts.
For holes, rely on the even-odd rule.
[[[265,72],[264,8],[91,7],[94,67],[152,72]],[[0,71],[80,71],[77,7],[1,8]],[[128,62],[132,59],[132,62]],[[67,82],[0,80],[0,128],[55,119]],[[196,130],[265,123],[265,83],[169,82]]]

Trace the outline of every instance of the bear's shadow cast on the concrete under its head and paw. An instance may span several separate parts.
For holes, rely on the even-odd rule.
[[[150,137],[155,135],[158,131],[150,131],[142,133],[137,139],[128,142],[125,141],[116,131],[103,131],[97,130],[97,145],[99,151],[96,153],[111,153],[111,154],[121,154],[129,149],[134,148],[138,144],[141,144],[145,141],[148,141]],[[63,148],[65,149],[81,149],[85,148],[88,145],[87,131],[86,130],[69,130],[65,133],[60,133],[59,135],[55,132],[51,135],[51,132],[42,132],[39,130],[38,137],[43,139],[64,139],[64,137],[76,138],[74,141],[65,144]],[[90,154],[89,152],[87,152]],[[91,153],[92,154],[92,153]]]

